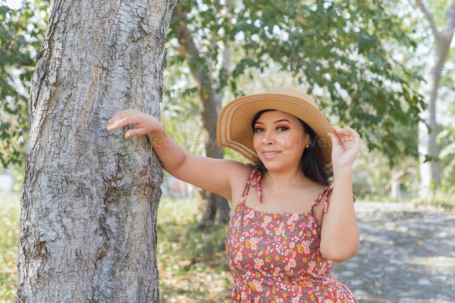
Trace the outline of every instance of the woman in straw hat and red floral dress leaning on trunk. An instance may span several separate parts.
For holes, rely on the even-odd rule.
[[[172,176],[238,201],[226,235],[232,302],[358,302],[331,269],[359,250],[351,166],[360,137],[330,126],[307,94],[281,87],[222,109],[217,143],[254,163],[247,165],[185,152],[155,117],[136,110],[109,122],[108,130],[136,124],[125,137],[147,134]]]

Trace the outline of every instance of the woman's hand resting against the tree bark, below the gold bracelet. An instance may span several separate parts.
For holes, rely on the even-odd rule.
[[[162,132],[163,128],[161,122],[156,117],[138,111],[137,109],[125,109],[117,112],[108,122],[109,124],[106,127],[109,131],[125,125],[136,124],[136,127],[125,132],[125,138],[142,136],[157,131]]]

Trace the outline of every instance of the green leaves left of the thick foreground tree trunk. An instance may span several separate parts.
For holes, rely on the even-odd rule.
[[[0,159],[4,167],[25,162],[28,90],[49,5],[49,1],[35,0],[33,5],[24,2],[13,10],[0,0]]]

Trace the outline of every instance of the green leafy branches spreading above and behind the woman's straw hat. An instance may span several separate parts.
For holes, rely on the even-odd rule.
[[[390,166],[418,155],[409,134],[426,106],[412,88],[422,78],[392,56],[394,49],[413,52],[418,41],[411,38],[415,27],[404,26],[394,14],[393,3],[244,0],[230,5],[177,2],[168,32],[170,53],[177,55],[169,56],[167,66],[202,68],[211,77],[208,84],[228,86],[239,97],[245,94],[240,75],[278,64],[309,85],[320,108],[356,129],[370,149],[383,152]],[[189,37],[181,34],[182,27]],[[198,54],[184,51],[187,39]],[[225,47],[242,53],[231,66],[221,62]]]

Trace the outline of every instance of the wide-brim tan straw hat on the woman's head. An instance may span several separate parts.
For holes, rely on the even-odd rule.
[[[287,112],[307,123],[319,137],[319,160],[329,177],[333,176],[332,141],[327,132],[334,134],[336,132],[313,99],[293,87],[282,86],[270,93],[247,95],[227,103],[218,116],[218,146],[231,148],[252,162],[258,161],[259,156],[253,145],[254,133],[251,122],[256,113],[263,109]],[[338,137],[338,134],[336,135]],[[314,142],[311,144],[315,147]]]

